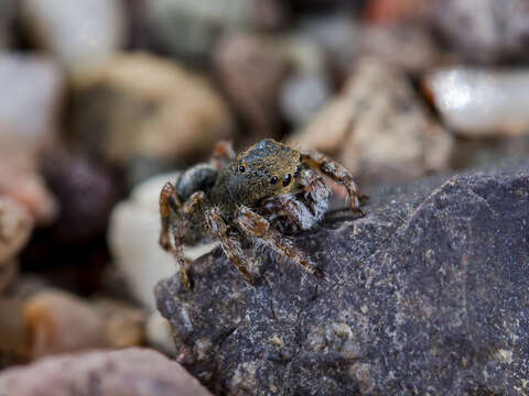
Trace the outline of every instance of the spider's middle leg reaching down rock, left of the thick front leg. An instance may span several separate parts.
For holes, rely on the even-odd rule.
[[[248,272],[247,258],[239,241],[228,235],[228,226],[220,216],[220,211],[213,207],[205,211],[205,218],[213,237],[220,241],[220,246],[228,260],[245,275],[250,284],[255,284],[253,277]]]

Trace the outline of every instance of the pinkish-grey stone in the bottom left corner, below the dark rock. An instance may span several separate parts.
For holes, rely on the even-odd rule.
[[[207,396],[177,363],[147,349],[48,358],[0,375],[1,396]]]

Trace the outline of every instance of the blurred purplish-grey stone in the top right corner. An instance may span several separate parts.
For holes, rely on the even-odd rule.
[[[526,0],[439,0],[434,23],[444,40],[469,62],[527,61]]]

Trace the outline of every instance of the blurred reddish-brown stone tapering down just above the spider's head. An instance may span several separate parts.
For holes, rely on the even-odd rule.
[[[278,91],[287,64],[271,37],[238,33],[218,43],[215,69],[253,140],[279,138]]]

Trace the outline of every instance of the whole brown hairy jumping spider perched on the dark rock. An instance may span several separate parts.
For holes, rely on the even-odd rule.
[[[176,258],[183,285],[190,286],[190,278],[182,245],[204,238],[218,240],[251,284],[241,244],[246,241],[322,275],[281,232],[307,230],[325,215],[330,189],[316,170],[344,185],[350,209],[360,211],[361,195],[347,169],[319,152],[296,151],[270,139],[237,157],[230,143],[220,142],[210,163],[187,169],[174,185],[165,184],[160,194],[160,244]]]

